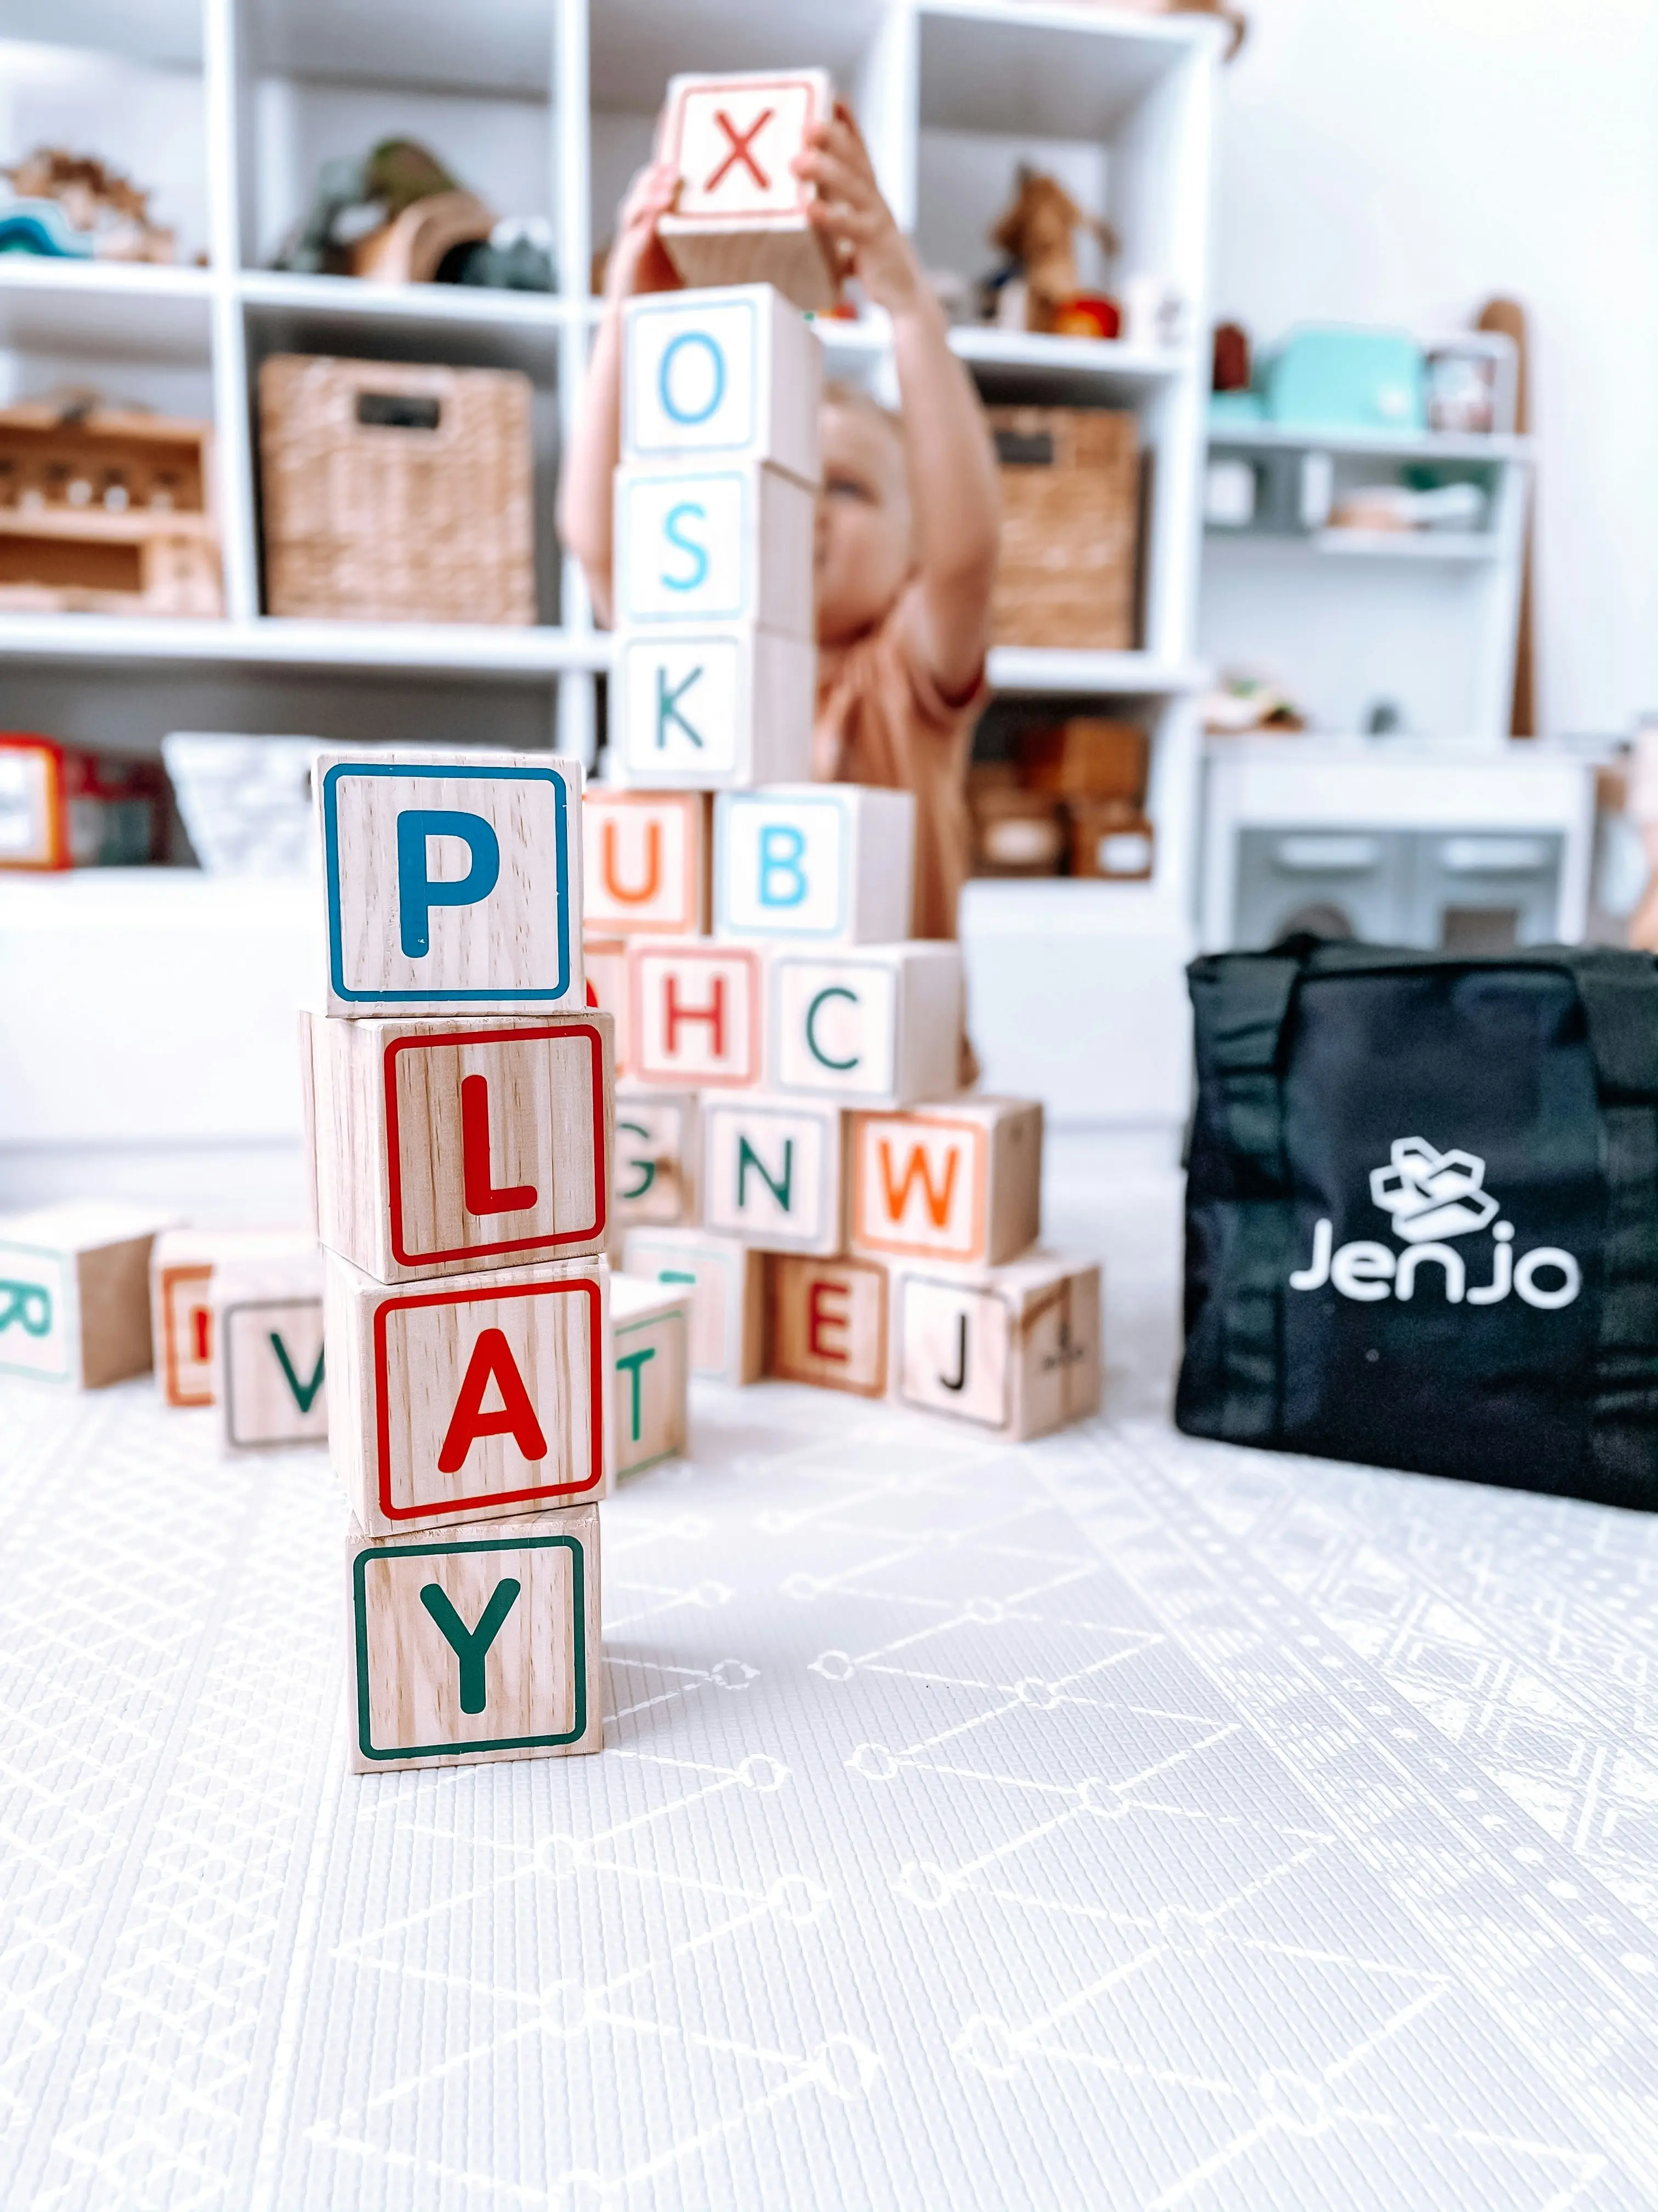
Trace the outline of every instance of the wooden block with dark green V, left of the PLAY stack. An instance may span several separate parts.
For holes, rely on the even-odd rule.
[[[228,1259],[208,1285],[225,1451],[327,1438],[323,1254]]]

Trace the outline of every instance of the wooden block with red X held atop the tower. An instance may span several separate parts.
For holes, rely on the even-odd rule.
[[[774,283],[796,307],[836,303],[807,215],[814,188],[789,168],[807,124],[829,122],[833,106],[822,69],[670,80],[661,150],[679,197],[657,230],[683,283]]]

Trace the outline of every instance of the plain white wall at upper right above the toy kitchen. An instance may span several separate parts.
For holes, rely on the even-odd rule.
[[[1214,310],[1532,327],[1545,730],[1658,706],[1658,7],[1245,0]]]

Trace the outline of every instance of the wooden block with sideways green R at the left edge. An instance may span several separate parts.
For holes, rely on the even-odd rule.
[[[0,1219],[0,1374],[102,1389],[150,1365],[159,1214],[117,1199]]]

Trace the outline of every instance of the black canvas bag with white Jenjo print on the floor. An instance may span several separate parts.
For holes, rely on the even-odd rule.
[[[1658,1504],[1658,962],[1192,964],[1189,1436]]]

